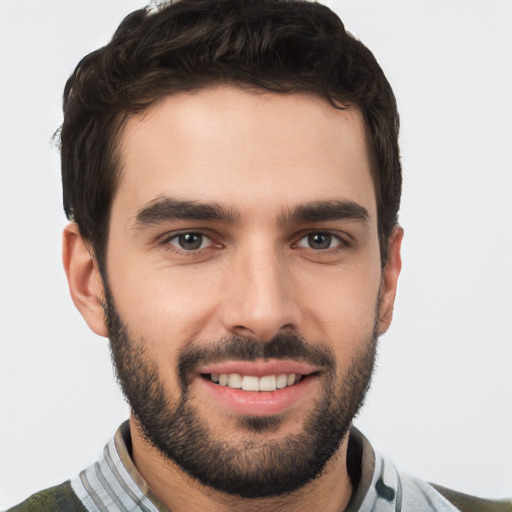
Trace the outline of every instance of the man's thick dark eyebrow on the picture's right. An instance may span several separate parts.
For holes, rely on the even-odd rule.
[[[304,224],[331,220],[367,222],[369,218],[368,210],[354,201],[314,201],[285,212],[279,218],[279,223]]]

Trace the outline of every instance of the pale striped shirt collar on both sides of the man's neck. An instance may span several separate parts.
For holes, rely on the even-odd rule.
[[[102,457],[71,480],[88,512],[171,512],[137,471],[130,451],[130,428],[125,422]],[[398,473],[355,428],[350,433],[347,463],[355,490],[345,512],[457,510],[426,482]]]

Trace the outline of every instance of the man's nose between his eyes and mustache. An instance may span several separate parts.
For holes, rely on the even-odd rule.
[[[261,244],[238,251],[227,274],[221,306],[224,329],[260,342],[298,329],[300,309],[284,255]]]

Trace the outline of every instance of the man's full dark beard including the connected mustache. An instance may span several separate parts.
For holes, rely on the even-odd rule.
[[[105,317],[117,380],[143,437],[169,461],[217,491],[242,498],[291,493],[322,474],[347,435],[364,402],[375,364],[377,322],[360,340],[346,374],[336,374],[332,351],[286,333],[267,343],[230,336],[208,343],[191,340],[176,363],[180,396],[169,396],[156,360],[118,314],[104,278]],[[378,304],[377,314],[378,318]],[[291,359],[322,367],[321,394],[299,433],[281,439],[277,432],[285,414],[242,416],[244,436],[235,440],[223,425],[210,427],[193,404],[194,370],[199,364],[226,360]],[[227,434],[222,438],[220,434]],[[265,435],[267,434],[267,435]]]

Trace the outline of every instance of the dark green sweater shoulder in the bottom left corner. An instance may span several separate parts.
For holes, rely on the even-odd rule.
[[[73,492],[69,480],[30,496],[19,505],[6,512],[86,512],[77,495]]]

